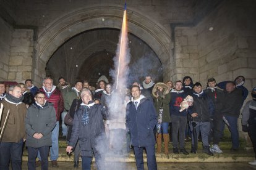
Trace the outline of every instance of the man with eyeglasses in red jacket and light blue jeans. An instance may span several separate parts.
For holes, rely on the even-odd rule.
[[[64,110],[64,99],[61,91],[59,91],[56,86],[53,85],[53,79],[49,77],[43,79],[43,87],[41,87],[39,91],[45,94],[47,102],[52,103],[53,107],[55,108],[56,126],[54,127],[51,134],[52,145],[50,148],[50,160],[53,167],[58,167],[57,160],[59,157],[59,119],[61,112]],[[40,152],[38,152],[38,159],[39,161],[36,162],[36,166],[40,166],[41,163]]]

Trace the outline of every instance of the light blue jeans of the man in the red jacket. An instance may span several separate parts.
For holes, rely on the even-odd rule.
[[[51,161],[57,161],[59,158],[59,121],[56,121],[56,126],[53,131],[51,131]],[[40,152],[37,155],[38,159],[41,161]]]

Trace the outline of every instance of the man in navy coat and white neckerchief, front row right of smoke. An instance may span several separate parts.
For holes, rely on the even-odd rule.
[[[134,146],[137,169],[144,169],[143,148],[147,152],[148,169],[157,169],[155,156],[155,134],[157,115],[152,100],[140,95],[140,87],[132,86],[132,101],[126,108],[126,126]]]

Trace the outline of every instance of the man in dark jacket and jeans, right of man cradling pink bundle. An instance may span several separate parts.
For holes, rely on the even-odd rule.
[[[211,99],[202,91],[202,85],[200,83],[195,83],[193,87],[193,108],[192,108],[192,120],[197,123],[195,127],[197,131],[197,138],[199,132],[202,136],[203,142],[203,152],[207,155],[213,156],[210,151],[210,145],[208,142],[208,136],[210,132],[210,119],[213,118],[214,105]],[[192,123],[190,123],[190,129],[193,129]],[[192,148],[191,153],[196,153],[196,148],[194,147],[194,137],[192,136]]]

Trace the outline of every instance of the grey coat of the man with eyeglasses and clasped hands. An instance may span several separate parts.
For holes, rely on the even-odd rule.
[[[25,127],[27,133],[27,147],[39,148],[51,146],[51,131],[56,126],[55,109],[52,103],[46,102],[42,107],[33,103],[28,108],[25,118]],[[41,139],[35,139],[35,133],[43,134]]]

